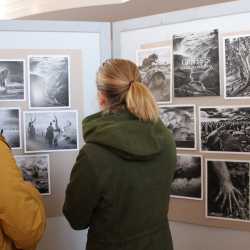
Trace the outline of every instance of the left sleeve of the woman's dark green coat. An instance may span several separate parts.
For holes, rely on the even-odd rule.
[[[98,178],[87,154],[82,149],[70,175],[63,213],[75,230],[89,227],[100,198]]]

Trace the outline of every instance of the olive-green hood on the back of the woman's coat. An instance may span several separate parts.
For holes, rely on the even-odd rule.
[[[144,122],[128,111],[99,112],[83,120],[86,143],[95,143],[131,160],[149,160],[166,144],[166,128],[159,120]]]

